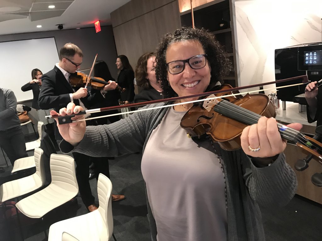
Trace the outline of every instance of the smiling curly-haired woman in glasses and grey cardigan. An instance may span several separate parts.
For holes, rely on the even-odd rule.
[[[167,34],[159,43],[156,62],[156,79],[165,98],[203,93],[230,70],[214,36],[190,28]],[[261,117],[243,130],[242,148],[225,151],[209,138],[188,138],[180,127],[192,106],[184,102],[194,99],[137,112],[110,125],[86,127],[84,121],[58,125],[64,138],[60,148],[93,156],[143,151],[141,169],[153,241],[265,240],[259,205],[284,206],[297,189],[276,120]],[[69,103],[59,114],[81,110]],[[76,115],[72,120],[81,118]]]

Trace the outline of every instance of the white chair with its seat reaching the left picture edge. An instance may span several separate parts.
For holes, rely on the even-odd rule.
[[[46,179],[43,163],[43,150],[36,147],[33,158],[36,172],[30,176],[3,183],[0,186],[1,202],[22,196],[44,185]]]

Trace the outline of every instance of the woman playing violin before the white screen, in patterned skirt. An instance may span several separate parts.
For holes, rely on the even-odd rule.
[[[39,92],[42,86],[42,80],[41,77],[43,76],[43,72],[40,71],[40,69],[33,69],[31,71],[31,81],[29,81],[27,84],[23,85],[21,87],[22,91],[33,91],[33,103],[31,107],[35,109],[38,113],[38,118],[39,121],[42,121],[45,127],[46,133],[50,136],[52,139],[52,142],[56,148],[56,150],[59,150],[59,147],[57,145],[57,142],[55,140],[55,135],[54,135],[54,121],[51,119],[45,118],[45,116],[50,115],[50,111],[53,109],[49,110],[42,110],[40,109],[38,105],[38,97],[39,97]]]

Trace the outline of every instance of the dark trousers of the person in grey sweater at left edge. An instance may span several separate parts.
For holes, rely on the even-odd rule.
[[[0,146],[9,157],[12,166],[15,160],[28,156],[21,126],[0,130]]]

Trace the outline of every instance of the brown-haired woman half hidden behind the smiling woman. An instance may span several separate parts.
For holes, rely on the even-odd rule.
[[[135,78],[143,90],[134,96],[134,103],[162,99],[162,89],[156,81],[156,55],[153,52],[143,54],[137,60]]]

